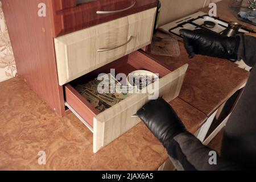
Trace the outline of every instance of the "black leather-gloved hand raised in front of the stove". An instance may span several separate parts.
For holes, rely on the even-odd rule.
[[[222,59],[237,60],[237,50],[240,44],[240,37],[227,37],[215,32],[203,29],[186,30],[181,29],[184,46],[187,49],[189,58],[195,55],[206,55]]]

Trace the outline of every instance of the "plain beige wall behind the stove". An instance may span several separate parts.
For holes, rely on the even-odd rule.
[[[160,0],[161,14],[159,25],[172,22],[189,14],[195,13],[209,2],[218,2],[221,0]]]

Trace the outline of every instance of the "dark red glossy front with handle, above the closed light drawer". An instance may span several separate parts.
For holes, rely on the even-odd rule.
[[[51,0],[53,36],[109,22],[157,6],[156,0]]]

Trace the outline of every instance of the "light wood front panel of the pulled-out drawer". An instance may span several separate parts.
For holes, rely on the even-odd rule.
[[[170,102],[179,96],[188,65],[183,65],[159,80],[159,96]],[[93,121],[93,152],[137,125],[139,118],[131,118],[148,102],[148,94],[133,94],[126,100],[96,115]]]

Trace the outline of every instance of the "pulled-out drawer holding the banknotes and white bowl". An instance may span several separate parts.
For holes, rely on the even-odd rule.
[[[140,122],[139,118],[132,116],[149,101],[148,93],[134,93],[100,113],[75,89],[77,84],[85,84],[96,78],[100,73],[110,73],[110,69],[113,68],[116,75],[118,73],[128,75],[138,69],[158,73],[160,77],[159,97],[163,97],[164,100],[170,102],[179,96],[188,65],[183,65],[183,67],[171,72],[157,61],[144,55],[144,53],[135,51],[65,85],[66,105],[93,131],[93,152],[97,152],[137,125]]]

